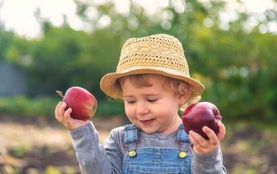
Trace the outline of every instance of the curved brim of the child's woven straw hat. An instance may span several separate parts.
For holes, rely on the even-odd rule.
[[[199,81],[187,77],[182,73],[159,67],[132,67],[120,73],[109,73],[101,79],[100,87],[108,96],[122,99],[121,91],[116,87],[117,79],[136,74],[158,74],[183,80],[192,86],[191,97],[198,96],[205,90],[205,87]]]

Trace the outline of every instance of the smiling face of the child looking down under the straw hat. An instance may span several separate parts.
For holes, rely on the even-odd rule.
[[[163,76],[148,77],[151,87],[137,87],[127,78],[121,83],[125,112],[130,121],[144,132],[168,135],[177,130],[181,118],[178,116],[180,97]]]

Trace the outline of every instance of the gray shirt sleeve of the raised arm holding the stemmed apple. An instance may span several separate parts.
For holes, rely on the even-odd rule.
[[[92,122],[69,131],[82,174],[122,174],[122,155],[112,131],[107,147],[99,143],[99,134]]]

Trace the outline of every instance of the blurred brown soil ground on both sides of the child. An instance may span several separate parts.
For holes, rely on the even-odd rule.
[[[93,118],[105,143],[122,117]],[[221,144],[229,174],[277,174],[277,130],[226,125]],[[55,118],[0,115],[0,174],[80,174],[68,131]]]

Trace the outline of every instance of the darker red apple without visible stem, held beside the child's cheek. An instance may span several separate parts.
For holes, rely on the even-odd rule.
[[[198,102],[186,108],[182,114],[182,120],[187,134],[190,130],[193,130],[207,140],[209,138],[202,131],[202,128],[208,126],[215,134],[218,134],[217,121],[222,121],[222,117],[213,103]]]

